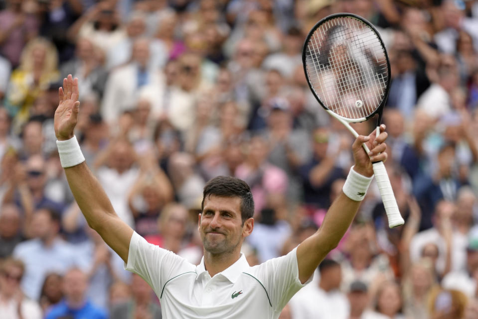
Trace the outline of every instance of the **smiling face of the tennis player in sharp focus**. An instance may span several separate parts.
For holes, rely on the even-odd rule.
[[[216,255],[239,251],[253,226],[252,218],[242,223],[239,197],[210,195],[204,199],[198,229],[206,252]]]

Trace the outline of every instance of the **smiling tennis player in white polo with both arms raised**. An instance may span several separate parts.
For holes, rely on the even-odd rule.
[[[55,112],[58,152],[71,191],[90,227],[143,277],[168,319],[278,318],[282,309],[313,276],[320,261],[349,227],[372,179],[371,161],[386,160],[387,133],[358,136],[352,145],[355,165],[343,192],[330,206],[320,229],[286,256],[250,267],[241,254],[254,228],[254,202],[248,185],[217,177],[204,187],[198,231],[204,244],[199,265],[149,244],[113,210],[104,190],[85,164],[74,136],[80,103],[78,79],[71,75],[59,89]],[[361,147],[367,143],[370,157]]]

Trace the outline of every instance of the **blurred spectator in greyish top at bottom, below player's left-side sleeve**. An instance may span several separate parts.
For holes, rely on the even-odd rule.
[[[131,292],[132,296],[129,301],[117,304],[112,308],[112,319],[162,318],[161,308],[155,303],[153,290],[148,283],[137,274],[133,274]]]

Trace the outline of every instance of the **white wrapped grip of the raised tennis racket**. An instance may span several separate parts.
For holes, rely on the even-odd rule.
[[[397,201],[395,195],[393,195],[392,185],[390,185],[390,179],[388,178],[387,170],[383,162],[373,163],[373,174],[377,181],[378,190],[382,197],[383,206],[388,217],[388,226],[390,228],[397,227],[404,224],[404,220],[400,211],[398,210]]]

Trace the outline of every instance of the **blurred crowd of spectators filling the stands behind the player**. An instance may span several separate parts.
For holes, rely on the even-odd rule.
[[[199,263],[217,175],[252,189],[251,265],[314,233],[353,161],[301,59],[336,12],[388,50],[385,164],[406,223],[388,228],[372,183],[281,318],[478,319],[477,0],[0,0],[0,319],[161,318],[69,191],[53,130],[68,74],[88,166],[150,243]]]

